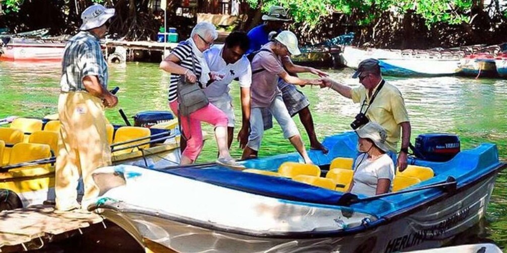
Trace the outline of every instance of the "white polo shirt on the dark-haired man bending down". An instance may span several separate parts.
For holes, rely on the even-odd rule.
[[[209,70],[224,75],[222,80],[214,81],[204,89],[204,93],[209,98],[220,97],[229,93],[229,85],[234,78],[239,78],[239,87],[249,88],[252,82],[252,70],[250,61],[246,56],[241,57],[232,64],[227,64],[222,58],[224,45],[215,45],[204,51],[204,60],[208,64]]]

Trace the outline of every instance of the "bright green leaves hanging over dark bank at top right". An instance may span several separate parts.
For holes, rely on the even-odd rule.
[[[260,5],[258,0],[244,0],[252,8]],[[267,12],[272,5],[290,8],[296,22],[316,25],[320,18],[333,12],[357,18],[359,25],[371,24],[382,13],[394,11],[405,14],[413,11],[432,26],[443,22],[460,24],[470,20],[468,12],[473,0],[264,0],[262,10]]]

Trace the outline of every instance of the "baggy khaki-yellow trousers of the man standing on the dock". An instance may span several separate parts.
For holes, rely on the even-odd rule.
[[[86,209],[99,192],[92,172],[111,165],[104,107],[99,98],[87,92],[61,93],[58,115],[61,126],[55,168],[56,209],[66,210],[78,205],[80,176],[84,182],[81,203]]]

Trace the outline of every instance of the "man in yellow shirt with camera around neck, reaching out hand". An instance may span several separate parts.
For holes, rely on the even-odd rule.
[[[322,87],[330,87],[342,96],[352,99],[354,103],[361,103],[359,113],[383,126],[387,131],[386,144],[394,153],[397,152],[401,134],[402,145],[396,163],[400,171],[404,171],[407,168],[411,126],[402,93],[382,78],[378,60],[366,59],[360,62],[352,76],[357,77],[361,86],[354,89],[330,78],[322,78]],[[365,123],[367,121],[364,117],[361,119],[361,116],[357,115],[351,126],[357,128]]]

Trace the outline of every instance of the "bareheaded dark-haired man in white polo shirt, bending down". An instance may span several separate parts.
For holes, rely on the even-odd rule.
[[[229,120],[227,128],[228,144],[231,143],[234,135],[234,109],[232,98],[229,95],[230,84],[234,79],[239,79],[241,89],[241,112],[242,126],[238,133],[240,147],[244,148],[248,141],[250,125],[250,85],[251,67],[250,61],[244,56],[248,50],[250,41],[244,32],[232,32],[227,36],[225,44],[215,45],[204,52],[204,59],[209,70],[223,76],[221,80],[215,80],[205,90],[209,102],[221,109]]]

